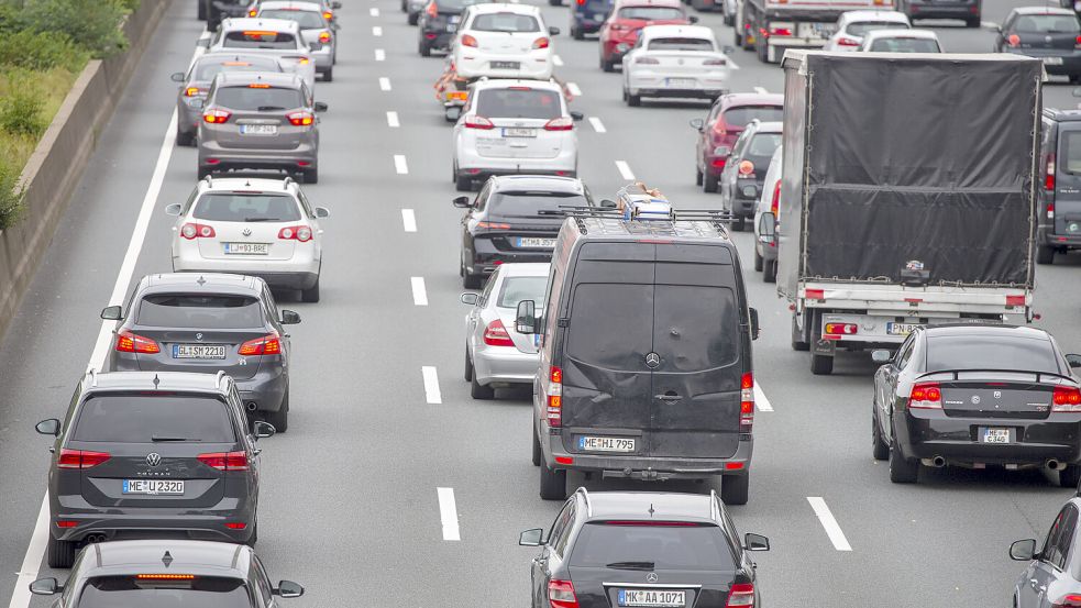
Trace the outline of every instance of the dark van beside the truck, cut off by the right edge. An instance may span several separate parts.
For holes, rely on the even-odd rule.
[[[1044,110],[1036,263],[1081,248],[1081,111]]]

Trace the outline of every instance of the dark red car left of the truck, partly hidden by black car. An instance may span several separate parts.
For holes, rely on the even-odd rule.
[[[738,92],[722,95],[705,119],[694,119],[691,126],[698,130],[695,153],[695,184],[707,192],[717,191],[717,180],[732,152],[732,145],[752,120],[783,120],[784,96],[779,93]]]

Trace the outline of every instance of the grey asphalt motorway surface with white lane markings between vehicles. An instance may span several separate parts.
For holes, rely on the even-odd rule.
[[[49,441],[33,424],[63,414],[82,372],[100,361],[100,309],[121,303],[132,277],[170,269],[163,209],[183,202],[196,179],[195,150],[168,137],[169,74],[188,65],[202,29],[192,4],[175,2],[158,29],[0,343],[0,606],[46,606],[12,592],[37,575],[66,576],[42,563]],[[999,22],[1012,5],[986,0],[983,19]],[[598,68],[597,42],[566,35],[566,8],[543,10],[563,30],[556,74],[581,92],[572,108],[587,117],[580,170],[593,192],[633,176],[677,207],[715,207],[694,186],[687,125],[706,106],[626,107],[620,75]],[[559,504],[538,497],[528,393],[474,401],[463,380],[461,210],[451,206],[451,128],[432,90],[443,60],[418,55],[398,0],[346,0],[339,14],[335,79],[316,86],[330,104],[320,183],[305,187],[331,210],[322,301],[278,302],[304,322],[291,328],[289,432],[262,444],[256,549],[273,578],[307,587],[282,603],[298,608],[527,606],[534,551],[517,546],[518,532],[548,527]],[[719,14],[702,18],[731,44]],[[991,48],[988,29],[933,25],[948,52]],[[743,51],[732,59],[733,91],[782,90],[777,66]],[[1049,84],[1046,104],[1077,107],[1071,91]],[[1041,538],[1072,490],[1041,472],[952,468],[891,484],[886,464],[871,458],[869,356],[842,354],[832,376],[812,376],[807,354],[788,346],[786,303],[751,270],[751,235],[733,240],[762,318],[754,373],[771,411],[760,398],[750,501],[731,512],[741,532],[771,539],[772,551],[757,554],[764,605],[1006,605],[1024,567],[1008,559],[1010,542]],[[1067,352],[1081,351],[1079,266],[1081,255],[1059,256],[1038,269],[1038,324]]]

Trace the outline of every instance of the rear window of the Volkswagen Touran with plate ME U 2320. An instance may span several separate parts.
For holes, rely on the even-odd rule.
[[[147,390],[91,395],[79,408],[71,439],[86,442],[233,443],[225,404],[211,395]]]

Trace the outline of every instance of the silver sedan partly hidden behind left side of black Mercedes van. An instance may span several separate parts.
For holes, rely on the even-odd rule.
[[[492,399],[498,386],[529,386],[537,374],[534,335],[515,330],[522,300],[544,301],[547,263],[504,264],[488,278],[484,291],[462,294],[473,305],[465,316],[465,380],[474,399]]]

